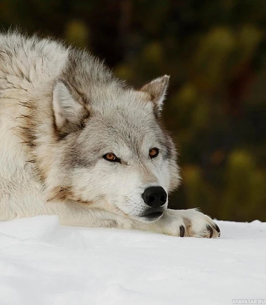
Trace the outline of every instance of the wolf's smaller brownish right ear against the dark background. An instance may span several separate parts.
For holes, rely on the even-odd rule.
[[[165,75],[158,77],[140,88],[139,91],[146,92],[150,95],[150,100],[156,106],[156,110],[161,112],[166,95],[170,76]]]

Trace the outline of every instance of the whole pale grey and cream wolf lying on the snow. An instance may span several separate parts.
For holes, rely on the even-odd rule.
[[[162,123],[169,76],[139,89],[86,50],[0,34],[0,220],[216,237],[197,209],[167,209],[180,183]]]

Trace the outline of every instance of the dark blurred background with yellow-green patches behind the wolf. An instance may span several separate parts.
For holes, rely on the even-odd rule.
[[[170,75],[170,207],[266,221],[266,0],[0,0],[0,24],[87,47],[136,87]]]

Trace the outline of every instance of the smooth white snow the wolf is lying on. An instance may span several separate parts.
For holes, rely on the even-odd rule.
[[[220,305],[266,299],[266,223],[221,237],[0,222],[0,305]]]

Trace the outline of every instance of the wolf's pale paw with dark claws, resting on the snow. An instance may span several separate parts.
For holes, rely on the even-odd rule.
[[[191,236],[212,238],[220,236],[220,229],[214,221],[197,209],[171,210],[170,214],[182,218],[183,224],[180,224],[179,226],[180,237]]]

